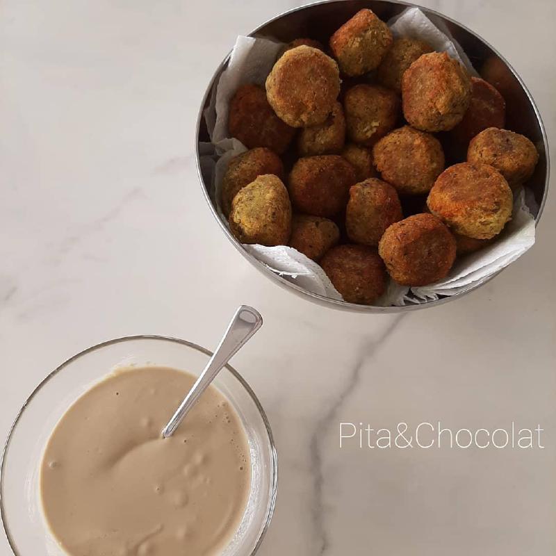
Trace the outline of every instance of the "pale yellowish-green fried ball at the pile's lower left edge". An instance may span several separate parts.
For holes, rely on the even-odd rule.
[[[291,202],[281,179],[264,174],[241,189],[231,202],[229,224],[241,243],[287,245]]]

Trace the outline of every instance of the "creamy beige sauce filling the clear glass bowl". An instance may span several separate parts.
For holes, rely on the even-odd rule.
[[[40,470],[44,516],[72,556],[213,556],[250,493],[245,430],[213,386],[170,439],[161,430],[195,382],[163,367],[110,375],[77,400]]]

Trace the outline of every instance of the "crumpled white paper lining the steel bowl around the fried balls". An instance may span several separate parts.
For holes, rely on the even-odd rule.
[[[418,8],[407,8],[389,21],[395,37],[406,36],[429,42],[436,51],[446,51],[457,58],[467,70],[477,76],[471,61],[444,25],[435,26]],[[202,145],[201,167],[211,183],[211,197],[220,218],[227,222],[220,210],[220,187],[231,158],[247,150],[234,138],[228,137],[228,110],[234,93],[245,83],[264,85],[277,55],[283,46],[275,40],[240,36],[236,40],[229,64],[222,72],[204,117],[211,143]],[[206,179],[206,178],[205,178]],[[377,306],[402,306],[437,300],[440,296],[455,295],[480,284],[495,272],[509,265],[534,244],[534,219],[525,204],[523,190],[516,195],[512,221],[496,241],[477,253],[458,259],[450,275],[436,284],[407,288],[389,282],[386,293]],[[529,196],[527,195],[528,199]],[[312,293],[341,300],[325,272],[318,264],[292,247],[279,245],[243,245],[272,272],[283,276]]]

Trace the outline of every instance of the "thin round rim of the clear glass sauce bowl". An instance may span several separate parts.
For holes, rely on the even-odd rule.
[[[73,355],[72,357],[70,357],[70,359],[66,359],[60,366],[56,367],[51,373],[49,373],[46,377],[44,377],[44,379],[41,380],[41,382],[38,384],[38,386],[36,386],[36,388],[33,390],[33,392],[31,392],[31,394],[25,400],[21,409],[19,409],[19,411],[17,412],[17,416],[15,417],[13,425],[10,427],[10,431],[8,432],[8,438],[6,439],[6,443],[4,443],[3,450],[2,450],[2,455],[0,457],[0,521],[2,522],[3,530],[6,534],[6,539],[8,540],[10,548],[12,549],[12,552],[15,556],[23,556],[23,555],[20,555],[17,552],[17,549],[15,548],[15,541],[13,540],[13,537],[10,534],[10,530],[8,528],[8,523],[6,522],[6,509],[4,508],[4,505],[3,505],[2,493],[3,493],[3,484],[4,484],[4,458],[6,457],[6,453],[8,452],[8,448],[10,447],[12,434],[15,430],[15,427],[17,427],[17,423],[19,423],[19,419],[21,418],[21,416],[24,413],[28,404],[31,402],[31,400],[33,400],[33,398],[38,393],[38,391],[40,391],[42,386],[44,386],[44,384],[47,384],[47,382],[49,382],[49,380],[51,378],[56,376],[67,365],[72,363],[72,361],[75,361],[76,359],[79,359],[79,357],[82,357],[83,355],[86,355],[88,353],[99,350],[102,347],[106,347],[108,345],[113,345],[113,344],[116,344],[116,343],[122,343],[122,342],[126,342],[126,341],[133,341],[133,340],[163,340],[163,341],[169,341],[169,342],[172,342],[172,343],[178,343],[178,344],[184,345],[186,347],[190,347],[191,349],[197,350],[198,352],[201,352],[202,354],[205,354],[208,357],[211,357],[213,355],[213,353],[211,351],[206,350],[204,347],[201,347],[200,345],[197,345],[193,342],[188,342],[186,340],[182,340],[181,338],[173,338],[172,336],[157,336],[155,334],[138,334],[138,335],[135,335],[135,336],[122,336],[120,338],[113,338],[113,340],[108,340],[108,341],[105,341],[105,342],[98,343],[96,345],[92,345],[91,347],[88,347],[87,349],[82,350],[81,352],[79,352],[79,353]],[[268,531],[268,527],[270,525],[270,521],[272,521],[272,516],[274,514],[274,510],[275,510],[275,506],[276,506],[276,497],[277,497],[277,492],[278,492],[278,453],[277,453],[277,450],[276,450],[274,436],[272,436],[272,430],[270,428],[270,422],[268,421],[268,417],[266,416],[265,410],[263,409],[263,406],[261,405],[261,402],[259,402],[259,398],[256,397],[256,394],[252,390],[251,386],[240,375],[240,373],[238,373],[238,371],[234,367],[232,367],[230,364],[227,364],[226,366],[224,366],[224,368],[226,368],[232,375],[234,375],[234,377],[238,380],[238,382],[241,384],[241,386],[243,386],[245,391],[247,391],[247,393],[250,395],[250,398],[253,400],[253,402],[255,404],[255,407],[257,408],[257,410],[259,411],[259,414],[261,415],[261,418],[263,420],[263,424],[265,425],[265,430],[266,430],[266,433],[268,435],[268,443],[269,443],[269,446],[270,446],[270,455],[271,455],[271,459],[272,459],[272,482],[270,484],[270,503],[268,505],[268,512],[266,514],[265,521],[263,523],[263,529],[261,530],[261,533],[259,534],[259,538],[257,539],[256,544],[255,544],[252,552],[250,553],[250,556],[254,556],[254,554],[257,552],[257,550],[259,550],[259,547],[261,546],[261,543],[263,542],[263,538],[265,537],[265,534]]]

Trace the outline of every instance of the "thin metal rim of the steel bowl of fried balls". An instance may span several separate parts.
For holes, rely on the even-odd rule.
[[[281,19],[281,17],[284,17],[285,15],[295,13],[295,12],[304,10],[306,8],[312,7],[312,6],[318,6],[320,4],[333,3],[333,2],[337,2],[337,1],[338,0],[322,0],[322,1],[313,2],[313,3],[306,3],[303,6],[300,6],[298,8],[293,8],[292,10],[287,10],[286,12],[281,13],[281,14],[275,16],[275,17],[271,17],[270,19],[268,19],[268,21],[264,22],[263,24],[261,24],[257,28],[255,28],[253,31],[251,31],[251,33],[249,33],[248,36],[252,37],[256,33],[258,33],[261,30],[261,28],[267,26],[268,24],[270,24],[272,22],[275,22],[277,19]],[[436,10],[431,10],[430,8],[424,8],[423,6],[418,6],[418,4],[414,4],[414,3],[410,3],[410,2],[404,2],[404,1],[401,1],[401,0],[375,0],[375,1],[384,2],[384,3],[394,3],[394,4],[398,4],[400,6],[405,6],[407,8],[419,8],[420,10],[423,10],[423,12],[425,14],[435,15],[436,17],[439,17],[441,19],[445,19],[446,21],[463,28],[465,31],[467,31],[468,33],[471,33],[471,35],[475,36],[478,40],[480,40],[481,42],[486,44],[486,46],[489,47],[494,52],[494,54],[496,54],[496,56],[498,56],[498,58],[500,58],[500,60],[502,60],[502,62],[505,63],[505,65],[507,65],[508,69],[516,77],[518,83],[521,85],[521,87],[525,91],[525,94],[527,95],[528,100],[530,101],[530,104],[533,108],[534,114],[537,117],[537,121],[539,122],[539,127],[541,129],[541,135],[542,135],[542,138],[543,138],[543,147],[544,147],[545,153],[546,153],[546,179],[545,179],[545,186],[544,186],[544,191],[543,191],[543,198],[541,199],[541,204],[539,206],[539,212],[537,213],[537,216],[535,217],[535,222],[534,223],[535,223],[535,227],[536,227],[537,224],[539,223],[539,220],[541,219],[541,215],[543,213],[543,209],[544,209],[544,206],[546,204],[546,197],[548,195],[548,183],[549,183],[549,178],[550,178],[550,155],[549,155],[549,152],[548,152],[548,138],[546,136],[546,129],[544,127],[544,123],[543,123],[543,120],[541,118],[541,114],[539,113],[539,109],[537,108],[537,104],[535,104],[534,99],[533,99],[529,89],[527,88],[525,83],[523,83],[523,80],[518,75],[516,70],[514,70],[514,67],[512,67],[512,65],[508,63],[506,58],[504,58],[504,56],[502,56],[500,54],[500,52],[498,52],[498,50],[495,49],[489,42],[484,40],[480,35],[477,35],[477,33],[475,33],[475,31],[472,31],[470,28],[468,28],[464,24],[461,24],[461,23],[457,22],[455,19],[452,19],[451,17],[443,15],[442,13],[439,13]],[[211,213],[212,213],[213,217],[215,218],[215,220],[220,225],[220,228],[222,229],[222,231],[224,231],[224,234],[225,234],[225,236],[227,236],[228,240],[231,241],[231,243],[232,243],[232,245],[234,245],[234,247],[236,247],[236,250],[238,250],[245,257],[245,259],[247,259],[247,261],[250,261],[250,263],[252,263],[252,265],[254,265],[254,267],[257,270],[259,270],[259,272],[262,272],[263,275],[265,275],[266,277],[275,281],[282,288],[291,289],[291,290],[293,290],[294,293],[296,293],[297,295],[300,295],[301,297],[308,297],[313,302],[317,302],[318,304],[321,304],[321,305],[324,304],[326,306],[333,307],[334,309],[341,309],[341,310],[344,310],[344,311],[352,311],[352,312],[356,312],[356,313],[400,313],[400,312],[405,312],[405,311],[417,311],[418,309],[428,309],[432,306],[436,307],[436,306],[439,306],[441,304],[450,302],[452,300],[460,299],[464,295],[466,295],[468,293],[471,293],[472,291],[477,290],[477,288],[480,288],[481,286],[484,286],[484,284],[486,284],[487,282],[491,281],[493,278],[498,276],[500,274],[500,272],[502,272],[502,270],[505,270],[505,269],[502,268],[502,270],[498,270],[498,272],[495,272],[492,276],[490,276],[489,278],[480,282],[480,284],[475,284],[475,286],[471,286],[466,291],[463,291],[461,293],[457,293],[455,295],[451,295],[449,297],[442,297],[439,300],[429,301],[429,302],[425,302],[425,303],[421,303],[421,304],[413,304],[413,305],[405,305],[405,306],[390,306],[390,307],[360,305],[360,304],[349,303],[349,302],[340,301],[340,300],[333,300],[330,297],[325,297],[324,295],[319,295],[318,293],[313,293],[313,292],[307,291],[306,289],[298,286],[297,284],[293,284],[293,282],[288,281],[285,278],[277,275],[275,272],[272,272],[272,270],[270,270],[264,263],[262,263],[261,261],[256,259],[252,254],[247,252],[245,249],[243,249],[242,245],[238,242],[238,240],[236,240],[236,238],[234,238],[234,236],[231,234],[231,231],[226,227],[224,222],[222,222],[222,220],[220,219],[220,216],[218,215],[218,212],[216,211],[215,207],[212,204],[211,197],[208,194],[208,188],[206,187],[206,185],[204,183],[204,179],[203,179],[202,171],[201,171],[201,161],[200,161],[200,153],[199,153],[199,131],[201,129],[201,124],[202,124],[202,119],[203,119],[203,114],[204,114],[204,106],[206,104],[206,101],[208,100],[209,95],[211,95],[211,90],[213,88],[213,85],[215,83],[215,80],[216,80],[217,76],[220,74],[221,70],[227,65],[230,56],[231,56],[231,51],[229,51],[227,56],[225,56],[224,60],[222,60],[222,62],[216,68],[215,72],[213,73],[213,76],[211,77],[211,81],[208,83],[207,88],[206,88],[206,90],[204,92],[204,95],[202,97],[201,107],[199,108],[199,113],[197,115],[197,124],[195,126],[195,163],[197,165],[197,175],[198,175],[199,181],[201,183],[201,188],[202,188],[202,191],[203,191],[203,195],[204,195],[204,198],[205,198],[205,200],[208,204],[208,207],[211,210]]]

